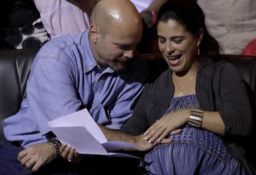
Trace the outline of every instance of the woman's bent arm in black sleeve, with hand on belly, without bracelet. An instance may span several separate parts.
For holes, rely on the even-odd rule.
[[[247,136],[251,133],[252,112],[244,80],[231,63],[214,72],[221,100],[216,100],[217,112],[204,111],[201,127],[218,135]],[[189,121],[190,109],[171,112],[154,123],[146,132],[150,142],[164,139],[171,131]]]

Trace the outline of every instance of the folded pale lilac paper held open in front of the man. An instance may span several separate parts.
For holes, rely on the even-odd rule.
[[[139,158],[112,152],[137,145],[121,141],[108,142],[87,109],[49,121],[48,125],[61,143],[68,144],[79,153]]]

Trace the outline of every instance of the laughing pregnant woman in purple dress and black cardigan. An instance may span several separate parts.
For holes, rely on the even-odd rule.
[[[170,140],[147,153],[144,168],[149,174],[253,174],[237,148],[251,132],[246,87],[236,67],[220,59],[196,2],[171,0],[160,8],[158,45],[169,69],[146,84],[122,128],[144,133],[152,144]]]

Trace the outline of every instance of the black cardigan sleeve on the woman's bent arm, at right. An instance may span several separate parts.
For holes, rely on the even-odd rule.
[[[220,70],[220,97],[216,101],[218,113],[225,125],[227,136],[248,136],[251,133],[253,114],[245,80],[231,63]]]

